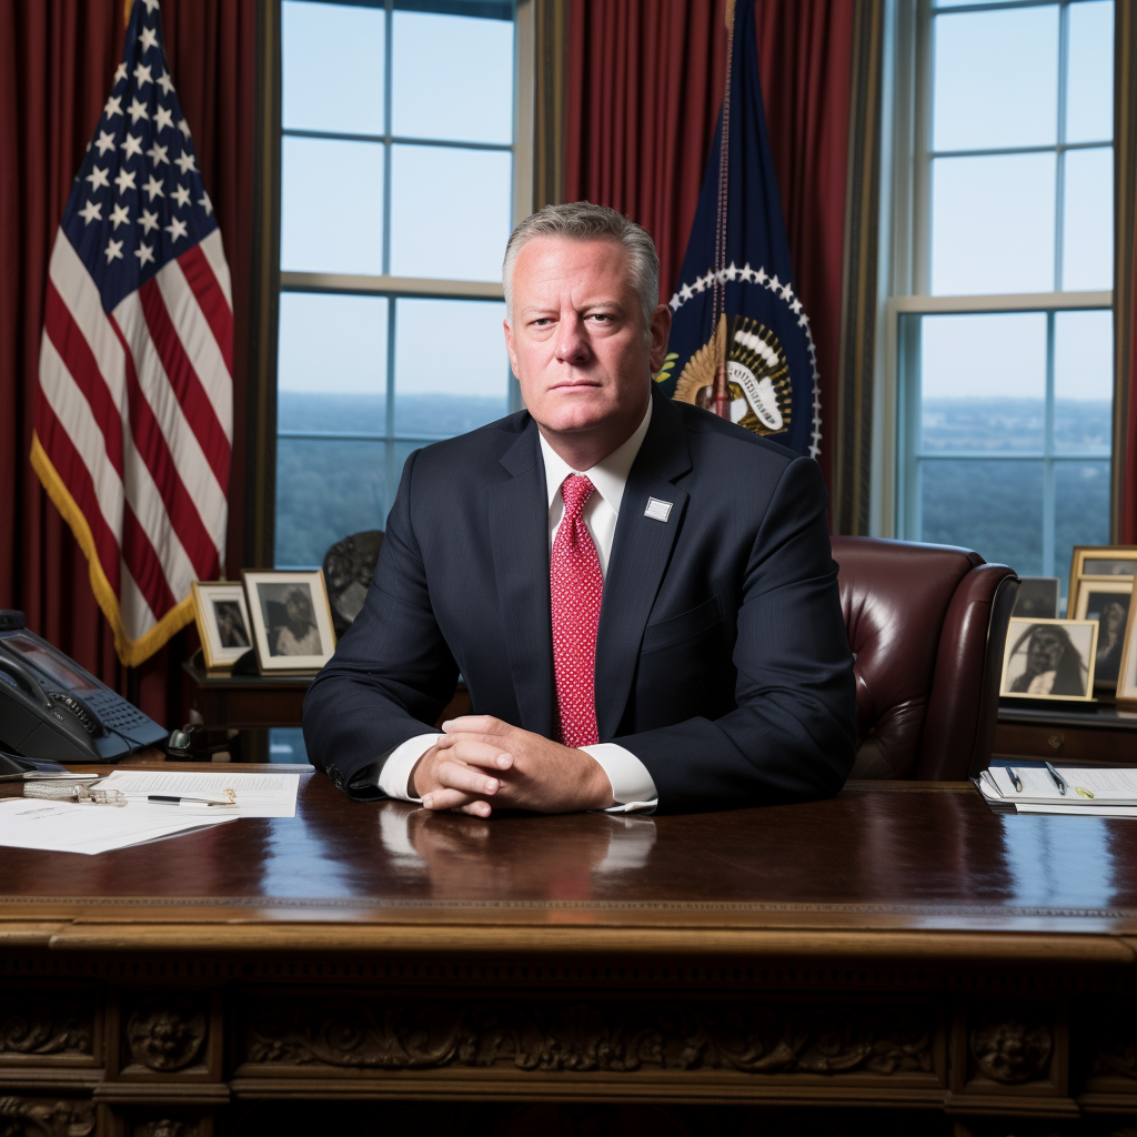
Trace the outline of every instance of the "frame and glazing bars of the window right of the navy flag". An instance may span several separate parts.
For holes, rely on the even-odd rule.
[[[886,125],[891,134],[891,147],[882,148],[886,163],[882,183],[888,186],[893,208],[890,231],[887,233],[885,264],[889,269],[889,289],[885,302],[885,359],[882,367],[883,398],[877,437],[890,459],[881,463],[877,529],[883,536],[904,540],[920,540],[920,316],[941,314],[1044,313],[1047,315],[1047,430],[1044,453],[1023,454],[1021,459],[1043,460],[1044,517],[1043,559],[1053,565],[1055,515],[1053,508],[1053,475],[1055,462],[1109,460],[1114,462],[1113,448],[1109,454],[1085,454],[1052,449],[1053,387],[1054,387],[1054,315],[1060,312],[1109,309],[1113,310],[1112,289],[1093,291],[1057,291],[1030,293],[932,296],[931,289],[931,214],[932,163],[938,157],[970,155],[995,156],[1003,153],[1054,152],[1055,218],[1054,218],[1054,283],[1062,279],[1063,255],[1063,189],[1065,181],[1064,155],[1070,151],[1102,149],[1101,142],[1068,143],[1064,141],[1065,82],[1068,69],[1069,11],[1074,3],[1086,0],[1012,0],[1012,2],[979,2],[953,5],[943,13],[1005,10],[1013,8],[1059,7],[1059,116],[1057,140],[1051,146],[1002,147],[990,150],[956,151],[932,150],[930,147],[933,99],[933,30],[937,13],[935,0],[896,0],[893,20],[886,41],[886,60],[889,67],[893,98],[886,111]],[[1117,24],[1114,23],[1114,26]],[[1117,75],[1114,75],[1117,84]],[[1117,160],[1117,122],[1113,125],[1112,151]],[[890,149],[890,153],[889,153]],[[890,168],[888,168],[890,166]],[[887,227],[886,227],[887,229]],[[1114,314],[1114,340],[1117,338]],[[1118,415],[1113,399],[1114,426]],[[1112,432],[1115,437],[1115,429]],[[945,455],[946,457],[946,455]],[[977,457],[980,457],[977,455]],[[990,460],[1021,460],[1019,455],[982,455]],[[1111,505],[1115,480],[1111,479]],[[1111,508],[1111,516],[1112,516]],[[1062,567],[1054,565],[1060,574]]]

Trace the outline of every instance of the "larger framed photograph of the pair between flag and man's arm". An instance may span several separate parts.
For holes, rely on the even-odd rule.
[[[252,617],[252,641],[263,672],[318,671],[335,650],[324,574],[241,573]]]

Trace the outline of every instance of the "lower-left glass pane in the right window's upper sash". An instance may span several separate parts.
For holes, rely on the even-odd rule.
[[[1054,289],[1054,160],[1029,153],[932,163],[933,294]]]

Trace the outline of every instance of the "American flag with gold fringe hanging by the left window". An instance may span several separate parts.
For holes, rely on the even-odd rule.
[[[136,666],[219,573],[233,441],[229,266],[158,0],[134,2],[48,275],[32,465]]]

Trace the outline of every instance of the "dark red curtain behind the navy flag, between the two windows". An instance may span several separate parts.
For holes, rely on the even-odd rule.
[[[770,144],[798,294],[822,387],[821,465],[837,431],[853,5],[756,0]],[[671,297],[722,103],[724,0],[573,0],[565,200],[633,217],[655,238]]]

